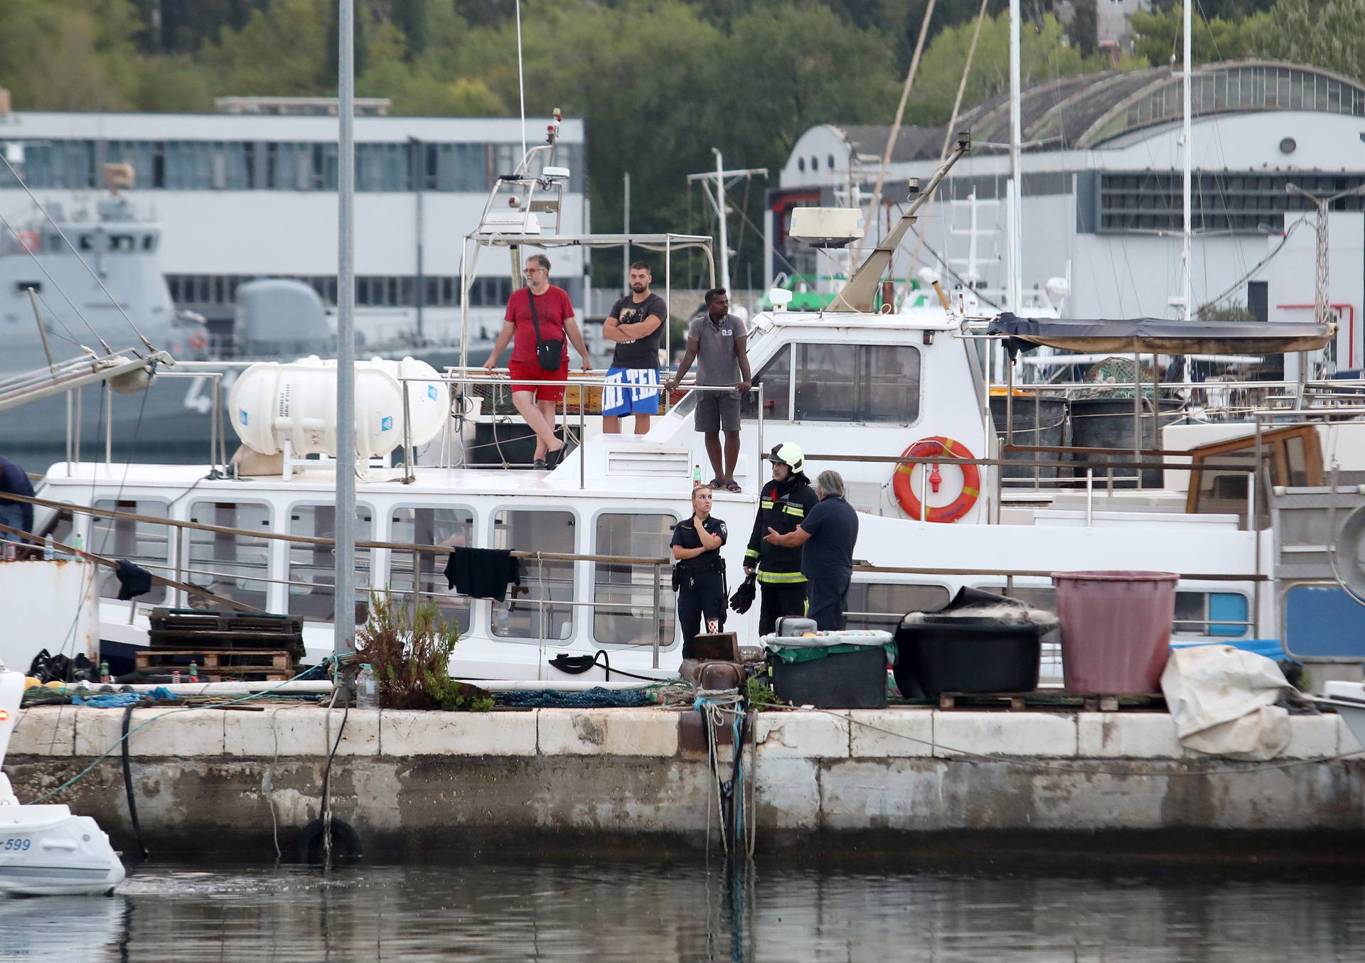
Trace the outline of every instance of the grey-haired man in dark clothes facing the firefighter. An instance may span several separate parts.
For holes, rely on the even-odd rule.
[[[807,615],[822,632],[838,632],[844,627],[844,606],[853,580],[857,512],[844,499],[844,476],[838,472],[820,472],[815,490],[820,502],[805,513],[800,525],[786,535],[770,528],[763,540],[801,550]]]

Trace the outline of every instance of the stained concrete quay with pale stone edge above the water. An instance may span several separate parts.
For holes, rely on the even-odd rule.
[[[149,842],[273,857],[273,827],[289,847],[319,816],[325,709],[136,709],[131,727],[164,713],[130,738]],[[19,798],[89,765],[121,717],[25,709],[4,767]],[[333,739],[341,717],[330,713]],[[759,846],[870,832],[1365,835],[1365,753],[1334,758],[1360,749],[1354,737],[1335,715],[1290,724],[1279,758],[1239,762],[1186,752],[1156,712],[768,711],[751,764]],[[700,847],[715,782],[693,711],[351,709],[332,799],[371,855],[500,838]],[[117,752],[53,802],[130,839]]]

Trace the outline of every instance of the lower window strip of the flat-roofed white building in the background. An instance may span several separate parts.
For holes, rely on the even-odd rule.
[[[171,300],[180,307],[232,307],[238,288],[262,277],[285,277],[318,292],[322,303],[337,303],[336,274],[167,274]],[[575,304],[583,303],[583,278],[557,280]],[[359,307],[415,307],[418,292],[425,307],[459,307],[460,278],[450,274],[422,277],[414,274],[360,274],[355,280],[355,303]],[[505,277],[475,278],[470,286],[470,307],[502,307],[512,295],[512,280]]]

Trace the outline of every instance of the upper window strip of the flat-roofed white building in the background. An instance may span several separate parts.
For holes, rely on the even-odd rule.
[[[334,191],[337,145],[276,140],[26,142],[22,175],[29,187],[98,187],[105,164],[130,164],[142,188],[167,191]],[[358,191],[476,191],[512,173],[520,143],[358,143]],[[560,145],[556,162],[572,172],[569,191],[583,190],[583,145]],[[0,188],[15,187],[8,169]]]

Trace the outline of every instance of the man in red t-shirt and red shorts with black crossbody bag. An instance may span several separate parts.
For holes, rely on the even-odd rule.
[[[560,460],[564,442],[554,436],[554,405],[564,400],[562,385],[519,385],[517,381],[558,381],[569,379],[569,348],[565,341],[573,342],[573,349],[583,359],[583,370],[591,371],[592,361],[588,360],[588,349],[583,344],[583,334],[573,319],[573,304],[564,288],[550,284],[550,259],[543,254],[532,254],[526,259],[526,288],[517,288],[508,299],[508,310],[498,331],[497,344],[483,367],[491,371],[497,367],[498,355],[512,341],[512,360],[508,361],[508,374],[512,375],[512,404],[526,419],[526,423],[535,432],[535,466],[554,468]],[[531,318],[531,299],[535,299],[535,319]],[[564,355],[560,367],[546,371],[541,367],[536,355],[535,325],[541,325],[541,341],[558,341],[564,345]],[[516,340],[513,341],[513,336]]]

